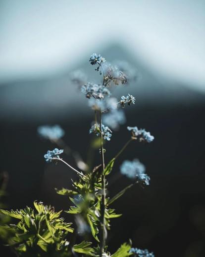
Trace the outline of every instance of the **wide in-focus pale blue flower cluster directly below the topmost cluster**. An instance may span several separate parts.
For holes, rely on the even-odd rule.
[[[110,95],[110,91],[105,86],[90,82],[81,87],[81,92],[85,94],[87,98],[94,97],[95,99],[103,99],[105,96]]]

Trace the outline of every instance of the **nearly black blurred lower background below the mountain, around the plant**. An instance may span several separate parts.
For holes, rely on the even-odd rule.
[[[111,223],[109,250],[113,252],[121,243],[132,239],[134,246],[148,248],[156,257],[203,257],[205,105],[201,102],[135,107],[126,110],[127,124],[137,123],[149,128],[155,139],[147,145],[132,142],[122,154],[121,161],[138,157],[147,167],[151,185],[144,189],[136,185],[113,204],[117,213],[123,213],[123,216]],[[80,149],[84,158],[91,120],[91,117],[78,118],[76,115],[76,119],[60,123],[68,131],[65,141],[73,149]],[[38,125],[26,121],[0,124],[0,170],[9,174],[7,205],[14,209],[32,206],[33,200],[37,199],[56,206],[56,209],[68,209],[70,203],[55,194],[53,188],[71,186],[70,178],[75,175],[61,164],[55,166],[44,162],[43,155],[52,146],[37,136]],[[106,162],[128,137],[126,126],[114,133],[106,144]],[[95,163],[99,161],[97,155]],[[116,162],[110,175],[110,195],[130,183],[125,177],[115,182],[121,161]],[[74,165],[72,161],[71,164]],[[72,220],[70,216],[66,218]],[[10,254],[7,252],[2,256]]]

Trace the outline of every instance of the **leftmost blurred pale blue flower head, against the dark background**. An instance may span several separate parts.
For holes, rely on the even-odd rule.
[[[65,134],[64,130],[59,125],[39,126],[37,131],[41,137],[50,140],[60,139]]]

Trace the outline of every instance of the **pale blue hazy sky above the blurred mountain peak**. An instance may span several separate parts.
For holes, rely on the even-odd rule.
[[[0,83],[72,68],[114,42],[205,92],[205,0],[0,1]]]

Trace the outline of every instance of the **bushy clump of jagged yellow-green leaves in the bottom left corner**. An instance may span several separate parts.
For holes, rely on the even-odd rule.
[[[0,210],[0,213],[17,219],[17,224],[1,226],[12,233],[7,243],[18,256],[28,256],[28,253],[31,256],[55,256],[57,252],[60,256],[67,249],[68,232],[73,232],[71,223],[65,223],[59,217],[61,211],[55,212],[51,206],[36,201],[34,206],[35,209],[27,206],[16,211]]]

